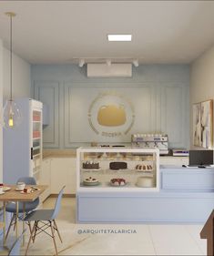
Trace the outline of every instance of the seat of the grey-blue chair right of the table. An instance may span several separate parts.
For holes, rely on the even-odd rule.
[[[49,221],[53,220],[52,216],[54,214],[54,209],[51,210],[34,210],[26,215],[24,221],[36,221],[36,220],[44,220]]]

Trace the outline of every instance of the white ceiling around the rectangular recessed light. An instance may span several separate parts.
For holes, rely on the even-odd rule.
[[[0,1],[0,38],[34,64],[73,58],[138,58],[140,63],[189,63],[214,44],[213,1]],[[107,42],[107,34],[132,42]]]

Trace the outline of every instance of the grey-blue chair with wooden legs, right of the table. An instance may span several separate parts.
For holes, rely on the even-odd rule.
[[[62,196],[63,196],[63,192],[66,186],[64,186],[59,194],[58,197],[56,199],[56,204],[55,204],[55,208],[48,210],[48,209],[44,209],[44,210],[33,210],[31,211],[29,214],[26,215],[24,221],[26,221],[29,225],[30,222],[34,221],[34,226],[33,226],[33,230],[30,233],[30,238],[26,247],[26,251],[25,251],[25,255],[28,251],[29,245],[30,245],[30,241],[32,240],[33,242],[36,239],[36,235],[38,235],[41,232],[45,232],[48,236],[50,236],[53,241],[54,241],[54,245],[55,245],[55,250],[56,250],[56,255],[58,255],[58,251],[56,248],[56,241],[55,241],[55,230],[58,234],[59,240],[61,242],[62,238],[59,234],[59,230],[57,229],[56,226],[56,216],[58,215],[58,212],[60,210],[60,206],[61,206],[61,200],[62,200]],[[41,224],[41,226],[39,226],[39,224]],[[51,234],[49,234],[46,229],[50,228],[51,230]]]

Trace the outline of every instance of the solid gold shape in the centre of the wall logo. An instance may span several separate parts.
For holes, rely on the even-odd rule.
[[[98,109],[97,122],[100,126],[118,127],[126,123],[127,117],[123,105],[107,105]]]

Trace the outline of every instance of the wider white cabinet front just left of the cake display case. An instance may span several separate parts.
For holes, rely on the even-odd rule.
[[[76,193],[76,159],[51,159],[51,194],[58,194],[66,185],[65,194]]]

